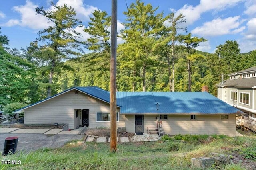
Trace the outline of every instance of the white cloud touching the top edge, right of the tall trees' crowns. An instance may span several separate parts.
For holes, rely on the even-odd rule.
[[[220,11],[226,8],[230,8],[244,0],[201,0],[197,6],[184,5],[177,10],[176,16],[182,13],[186,18],[186,24],[191,25],[196,20],[200,19],[201,14],[208,11]]]

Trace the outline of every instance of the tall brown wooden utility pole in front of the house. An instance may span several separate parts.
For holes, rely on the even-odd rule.
[[[110,57],[110,150],[116,153],[116,34],[117,34],[117,0],[112,0],[111,12],[111,57]]]

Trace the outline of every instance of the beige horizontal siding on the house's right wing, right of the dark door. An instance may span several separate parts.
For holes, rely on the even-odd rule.
[[[156,115],[144,115],[144,133],[147,127],[156,128]],[[227,120],[220,120],[220,115],[196,115],[196,121],[190,115],[168,115],[162,121],[166,134],[224,134],[236,135],[236,115],[228,115]],[[145,121],[147,120],[147,121]]]

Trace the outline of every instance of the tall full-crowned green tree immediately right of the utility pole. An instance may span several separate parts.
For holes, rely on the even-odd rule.
[[[128,22],[124,23],[126,29],[122,31],[122,38],[125,43],[119,46],[119,56],[123,61],[132,61],[130,75],[134,75],[134,79],[138,72],[142,72],[140,76],[143,91],[146,91],[146,71],[156,63],[154,46],[159,42],[159,35],[164,29],[163,14],[155,14],[157,9],[153,9],[151,4],[145,5],[136,0],[124,12]]]

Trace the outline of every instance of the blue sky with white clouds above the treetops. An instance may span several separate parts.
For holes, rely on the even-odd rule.
[[[128,6],[135,0],[126,0]],[[46,18],[36,15],[35,8],[43,6],[50,10],[51,0],[2,0],[0,4],[1,35],[8,36],[9,48],[20,49],[29,46],[39,37],[38,31],[47,28],[50,23]],[[84,27],[88,26],[89,17],[94,10],[105,10],[111,14],[111,0],[53,0],[55,4],[67,4],[77,12]],[[156,13],[164,16],[182,13],[186,27],[192,36],[204,37],[208,41],[200,43],[200,51],[214,53],[216,46],[227,40],[236,40],[241,53],[256,49],[256,0],[144,0],[145,4],[158,7]],[[125,0],[118,0],[118,32],[124,29],[127,11]],[[89,37],[82,29],[77,31]],[[122,39],[118,39],[121,43]]]

